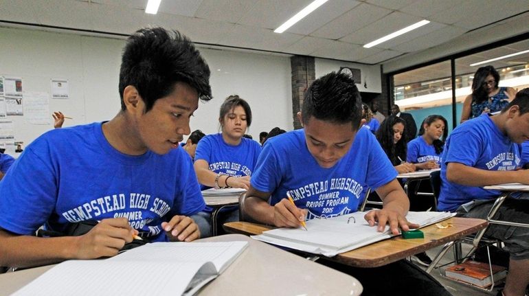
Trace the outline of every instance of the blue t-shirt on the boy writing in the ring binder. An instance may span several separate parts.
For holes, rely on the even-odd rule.
[[[308,209],[308,219],[356,212],[363,187],[376,189],[397,175],[390,160],[367,128],[359,128],[349,149],[332,168],[322,168],[308,151],[305,130],[269,139],[259,157],[251,185],[271,192],[270,204],[286,198]]]

